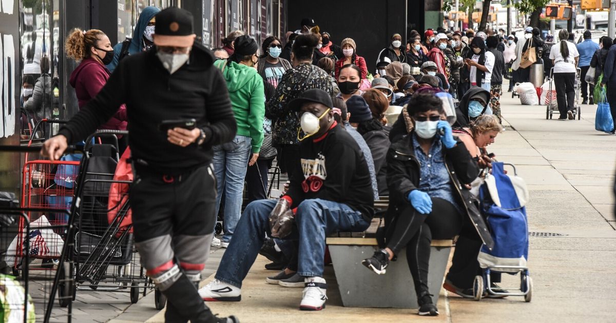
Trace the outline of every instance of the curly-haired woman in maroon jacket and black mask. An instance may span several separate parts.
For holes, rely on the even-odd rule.
[[[105,65],[113,60],[113,47],[102,31],[95,29],[83,31],[75,28],[68,36],[66,50],[68,57],[73,58],[75,62],[81,61],[71,73],[69,80],[71,86],[75,88],[81,109],[107,83],[111,73]],[[100,129],[126,130],[126,120],[126,107],[121,105],[118,112]],[[126,149],[126,138],[120,140],[119,145],[122,154]]]

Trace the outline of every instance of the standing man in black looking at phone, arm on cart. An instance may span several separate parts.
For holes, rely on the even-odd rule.
[[[155,47],[121,60],[41,153],[59,159],[68,143],[84,140],[126,103],[135,244],[168,299],[165,321],[238,322],[214,316],[196,288],[216,224],[212,146],[229,142],[237,130],[229,92],[211,52],[195,42],[190,12],[161,11],[153,37]],[[148,95],[141,95],[144,89]]]

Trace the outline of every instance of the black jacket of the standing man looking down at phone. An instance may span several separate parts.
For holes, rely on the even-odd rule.
[[[163,68],[155,47],[120,61],[107,84],[60,129],[68,143],[84,140],[126,104],[132,157],[169,175],[208,164],[211,147],[235,137],[237,125],[221,71],[209,49],[195,42],[188,63],[173,74]],[[158,129],[164,120],[197,119],[206,134],[202,146],[185,148]]]

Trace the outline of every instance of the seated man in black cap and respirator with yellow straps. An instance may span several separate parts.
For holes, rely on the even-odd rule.
[[[246,207],[214,281],[200,289],[206,301],[240,301],[241,282],[265,234],[299,241],[298,274],[305,287],[300,309],[325,307],[325,237],[335,231],[364,231],[373,217],[368,165],[355,140],[334,121],[330,94],[306,90],[289,103],[301,119],[304,178],[291,180],[278,201],[259,200]],[[294,225],[296,224],[296,225]]]

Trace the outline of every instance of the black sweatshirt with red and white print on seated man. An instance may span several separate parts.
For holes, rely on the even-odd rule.
[[[333,126],[321,138],[299,144],[304,180],[295,178],[286,193],[297,207],[305,199],[344,203],[370,222],[374,194],[366,159],[357,142],[341,126]]]

